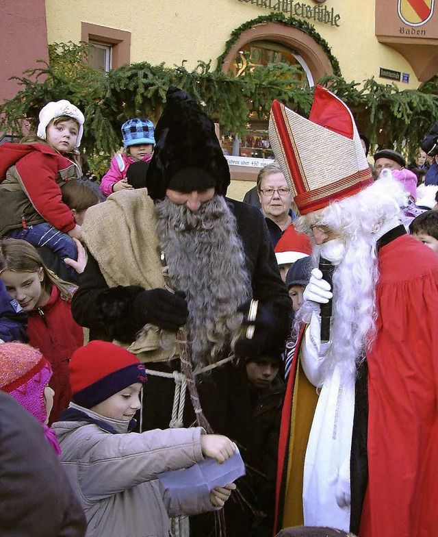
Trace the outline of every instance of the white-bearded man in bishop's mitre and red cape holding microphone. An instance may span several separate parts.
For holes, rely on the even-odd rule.
[[[390,171],[372,181],[352,114],[331,92],[315,88],[309,120],[274,101],[270,142],[320,265],[296,313],[306,324],[283,407],[277,527],[433,535],[436,256],[407,236],[406,192]]]

